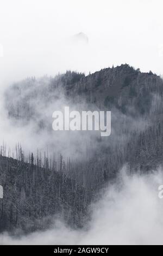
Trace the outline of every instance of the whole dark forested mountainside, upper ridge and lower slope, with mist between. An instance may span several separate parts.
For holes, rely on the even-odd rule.
[[[59,213],[70,225],[82,227],[87,206],[124,164],[130,172],[149,172],[161,166],[162,92],[161,77],[127,64],[88,76],[67,71],[54,78],[33,77],[12,85],[5,93],[5,107],[12,124],[27,130],[32,125],[32,136],[43,135],[45,148],[51,142],[52,148],[64,149],[70,139],[70,155],[64,156],[61,151],[27,157],[20,150],[12,158],[1,155],[1,230],[45,228],[45,220],[48,222],[48,217]],[[90,136],[90,141],[84,136],[58,138],[52,130],[51,112],[68,103],[73,107],[80,103],[81,110],[90,106],[111,110],[111,135]],[[75,159],[72,147],[73,152],[79,152]]]

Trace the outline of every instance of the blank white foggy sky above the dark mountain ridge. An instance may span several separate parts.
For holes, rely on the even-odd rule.
[[[162,9],[162,0],[0,0],[1,85],[122,63],[163,74]],[[73,41],[80,32],[89,44]]]

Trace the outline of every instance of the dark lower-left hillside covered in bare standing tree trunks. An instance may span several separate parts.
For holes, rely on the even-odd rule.
[[[57,162],[48,159],[34,164],[0,155],[0,182],[4,198],[0,199],[0,231],[13,228],[23,231],[45,229],[60,217],[74,227],[83,225],[89,194],[66,173],[57,171]],[[68,172],[68,170],[67,170]],[[53,218],[54,219],[53,219]]]

